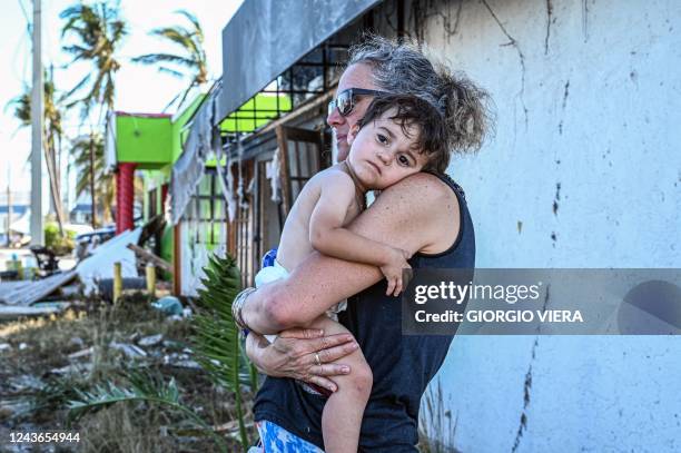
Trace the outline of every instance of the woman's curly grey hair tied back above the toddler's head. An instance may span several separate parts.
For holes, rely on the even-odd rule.
[[[349,49],[348,66],[372,67],[374,82],[384,91],[413,95],[430,102],[443,116],[452,151],[481,148],[492,116],[490,96],[463,72],[434,66],[414,45],[369,35]]]

